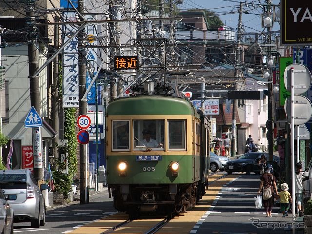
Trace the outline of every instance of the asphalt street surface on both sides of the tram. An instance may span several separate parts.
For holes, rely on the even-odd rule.
[[[226,175],[225,172],[217,174],[219,176]],[[203,201],[195,207],[195,211],[192,209],[192,211],[176,217],[172,220],[173,222],[169,222],[167,230],[170,232],[166,233],[181,234],[182,230],[185,231],[183,233],[190,234],[292,233],[287,225],[292,221],[291,214],[287,218],[282,218],[279,208],[274,207],[273,217],[267,218],[264,208],[255,208],[254,197],[259,187],[259,175],[234,173],[234,175],[226,176],[223,179],[226,182],[222,183],[222,179],[220,179],[220,181],[209,185],[205,195],[209,202]],[[198,211],[201,212],[201,215],[196,217],[195,214]],[[14,233],[64,234],[75,231],[75,233],[80,233],[77,232],[78,229],[88,223],[95,223],[93,226],[105,225],[105,222],[98,222],[98,220],[116,212],[113,208],[112,198],[108,197],[107,189],[95,194],[90,191],[89,204],[80,205],[79,201],[75,201],[69,205],[47,209],[45,226],[34,229],[30,228],[30,223],[16,223],[14,224]],[[188,224],[190,228],[188,230],[183,227],[180,230],[176,228],[184,224]],[[175,225],[177,226],[175,227]],[[137,229],[135,233],[140,233],[139,230]],[[118,233],[123,232],[121,230]],[[160,230],[157,233],[163,233],[163,231]],[[297,234],[303,234],[303,231],[300,230]]]

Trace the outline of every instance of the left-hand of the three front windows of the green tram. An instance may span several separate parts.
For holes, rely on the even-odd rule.
[[[113,125],[113,150],[129,150],[129,121],[115,120]]]

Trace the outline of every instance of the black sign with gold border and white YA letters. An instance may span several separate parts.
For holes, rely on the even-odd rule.
[[[312,1],[281,0],[281,45],[312,45]]]

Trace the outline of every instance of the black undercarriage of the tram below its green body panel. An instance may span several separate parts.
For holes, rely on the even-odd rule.
[[[205,184],[111,185],[114,207],[130,219],[141,214],[166,214],[169,218],[195,206],[205,194]]]

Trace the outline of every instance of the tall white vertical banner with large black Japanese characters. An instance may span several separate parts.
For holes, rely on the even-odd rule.
[[[67,12],[69,21],[76,22],[75,13]],[[68,41],[77,27],[65,24],[63,26],[63,41]],[[64,78],[63,78],[63,107],[79,107],[79,78],[78,78],[78,37],[75,37],[64,48]]]

